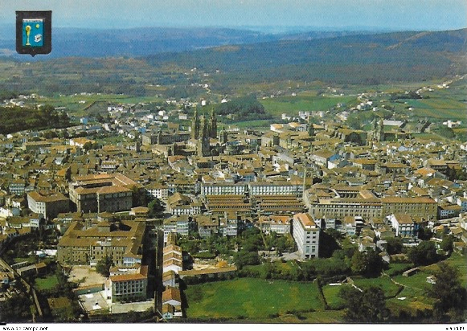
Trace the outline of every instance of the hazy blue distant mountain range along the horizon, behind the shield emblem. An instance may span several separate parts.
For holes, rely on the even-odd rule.
[[[306,31],[304,28],[295,28],[292,31],[295,32],[273,34],[233,28],[54,28],[52,53],[47,57],[134,57],[222,45],[313,40],[369,33],[368,31]],[[15,48],[14,27],[0,26],[0,55],[14,55]],[[24,59],[24,56],[16,57]],[[45,56],[37,58],[45,58]]]

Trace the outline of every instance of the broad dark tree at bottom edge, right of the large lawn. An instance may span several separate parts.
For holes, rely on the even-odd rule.
[[[378,323],[389,317],[384,292],[380,287],[370,286],[361,292],[345,286],[340,289],[339,296],[345,302],[344,316],[350,322]]]

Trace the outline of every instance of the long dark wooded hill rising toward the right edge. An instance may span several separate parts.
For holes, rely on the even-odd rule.
[[[222,46],[146,57],[205,71],[221,70],[233,82],[281,77],[344,84],[420,81],[466,70],[467,29],[349,35],[311,41],[279,41]],[[457,64],[457,65],[453,65]]]

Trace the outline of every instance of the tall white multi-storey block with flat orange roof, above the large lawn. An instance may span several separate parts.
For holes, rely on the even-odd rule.
[[[301,259],[318,257],[319,227],[308,213],[295,214],[292,221],[293,238]]]

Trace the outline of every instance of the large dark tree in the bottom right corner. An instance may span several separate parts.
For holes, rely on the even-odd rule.
[[[436,283],[427,290],[435,299],[433,317],[438,322],[464,322],[467,311],[467,290],[461,285],[459,268],[446,262],[438,263],[434,273]]]

